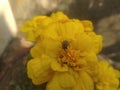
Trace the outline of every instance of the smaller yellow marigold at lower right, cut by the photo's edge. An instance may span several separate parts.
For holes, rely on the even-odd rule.
[[[118,90],[120,75],[107,61],[100,61],[96,71],[96,90]]]

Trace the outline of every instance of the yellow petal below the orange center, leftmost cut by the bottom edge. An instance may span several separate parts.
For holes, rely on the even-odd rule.
[[[68,72],[55,73],[53,79],[48,83],[46,90],[73,90],[76,82]]]

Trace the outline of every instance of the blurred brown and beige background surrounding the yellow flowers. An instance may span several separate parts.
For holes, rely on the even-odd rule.
[[[26,79],[25,65],[32,44],[24,40],[20,28],[33,16],[56,11],[70,18],[91,20],[95,32],[103,36],[99,57],[120,69],[119,0],[0,0],[0,90],[39,89]]]

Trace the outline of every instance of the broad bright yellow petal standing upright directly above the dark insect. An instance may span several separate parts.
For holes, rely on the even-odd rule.
[[[66,23],[58,23],[57,33],[62,39],[74,40],[76,35],[84,31],[79,20],[71,20]]]

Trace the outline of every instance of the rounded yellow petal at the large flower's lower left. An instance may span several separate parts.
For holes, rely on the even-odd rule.
[[[27,64],[27,74],[35,85],[42,84],[51,79],[53,71],[50,68],[52,58],[42,55],[41,58],[35,58]]]

